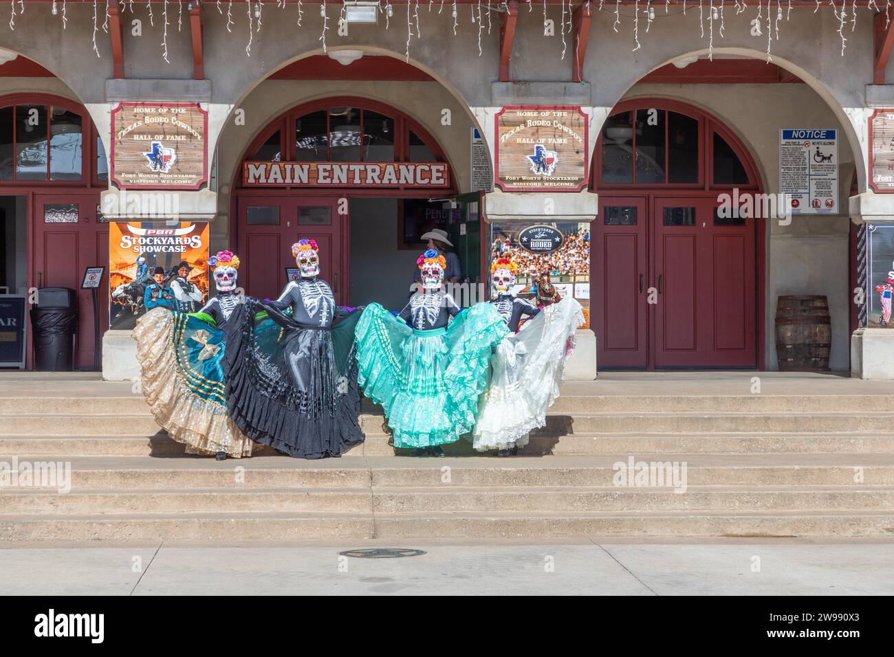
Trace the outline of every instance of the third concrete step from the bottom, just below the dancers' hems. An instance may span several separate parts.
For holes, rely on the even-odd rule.
[[[19,468],[29,457],[17,457]],[[269,488],[606,486],[629,481],[629,454],[410,459],[363,457],[308,461],[283,457],[72,457],[72,491]],[[36,458],[34,461],[46,459]],[[892,454],[637,454],[634,467],[686,467],[689,486],[878,486],[894,484]],[[35,464],[34,467],[37,467]],[[636,469],[634,470],[636,473]],[[627,477],[625,479],[625,477]],[[55,481],[48,488],[57,488]],[[8,485],[8,484],[6,484]],[[4,490],[10,490],[5,488]],[[27,488],[25,490],[28,490]]]

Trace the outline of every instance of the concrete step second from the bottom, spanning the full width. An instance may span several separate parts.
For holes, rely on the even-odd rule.
[[[894,486],[668,488],[479,487],[182,489],[108,492],[6,491],[0,521],[7,515],[105,515],[156,513],[443,513],[590,511],[876,510],[894,512]]]

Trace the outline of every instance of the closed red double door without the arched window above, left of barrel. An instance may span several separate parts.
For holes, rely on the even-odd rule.
[[[717,213],[714,198],[599,200],[599,366],[756,366],[755,219]]]

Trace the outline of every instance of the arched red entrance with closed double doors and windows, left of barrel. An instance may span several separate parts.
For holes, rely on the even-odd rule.
[[[594,160],[600,368],[760,366],[763,231],[718,210],[761,191],[746,148],[709,114],[646,98],[612,110]]]

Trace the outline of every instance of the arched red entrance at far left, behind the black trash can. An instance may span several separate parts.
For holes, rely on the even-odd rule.
[[[108,187],[102,140],[87,109],[63,97],[0,97],[0,286],[10,293],[63,287],[78,291],[75,367],[91,369],[91,291],[80,290],[89,266],[108,270],[108,224],[99,194]],[[107,285],[100,285],[100,332],[108,327]],[[31,360],[28,336],[28,364]]]

